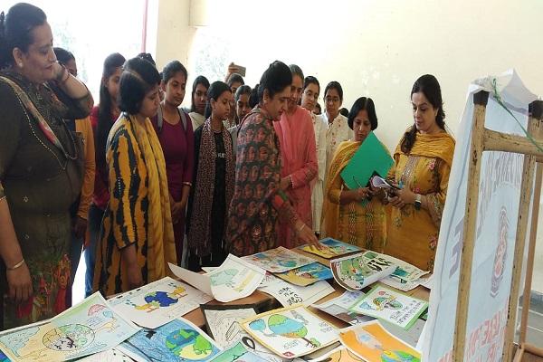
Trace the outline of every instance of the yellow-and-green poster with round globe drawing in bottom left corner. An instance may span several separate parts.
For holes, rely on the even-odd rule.
[[[65,361],[114,348],[137,331],[96,292],[48,322],[2,332],[0,348],[13,362]]]

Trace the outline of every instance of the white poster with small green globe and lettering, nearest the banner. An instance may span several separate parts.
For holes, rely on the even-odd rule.
[[[418,300],[383,285],[376,285],[349,309],[387,322],[405,330],[428,308],[428,302]]]

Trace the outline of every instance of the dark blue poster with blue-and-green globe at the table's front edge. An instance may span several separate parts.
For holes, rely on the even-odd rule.
[[[148,362],[208,362],[220,352],[212,338],[186,319],[142,329],[118,349],[137,361]]]

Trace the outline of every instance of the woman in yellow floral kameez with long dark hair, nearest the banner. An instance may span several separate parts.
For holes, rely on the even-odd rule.
[[[391,197],[385,252],[426,271],[433,270],[447,195],[454,138],[445,130],[439,82],[426,74],[411,90],[414,125],[395,149],[388,180],[402,189]]]

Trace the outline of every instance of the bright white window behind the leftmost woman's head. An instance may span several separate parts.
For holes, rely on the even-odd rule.
[[[5,12],[20,1],[8,0]],[[120,52],[125,58],[141,50],[145,0],[95,0],[71,2],[35,0],[47,15],[53,45],[75,56],[78,78],[89,87],[98,103],[100,78],[105,58]]]

